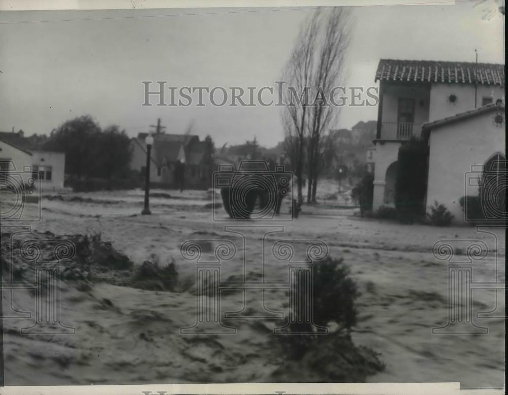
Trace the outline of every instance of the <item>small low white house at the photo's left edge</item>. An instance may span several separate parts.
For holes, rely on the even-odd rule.
[[[65,153],[41,151],[24,137],[23,131],[0,132],[0,177],[20,174],[23,181],[37,179],[42,191],[63,188]]]

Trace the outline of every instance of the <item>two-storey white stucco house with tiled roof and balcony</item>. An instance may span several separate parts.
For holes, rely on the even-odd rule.
[[[430,136],[427,206],[434,200],[443,204],[457,201],[463,195],[456,196],[451,185],[439,185],[442,180],[436,177],[436,169],[450,172],[445,166],[459,163],[459,156],[468,157],[473,164],[484,163],[497,152],[505,155],[504,126],[500,139],[500,129],[491,124],[492,112],[499,112],[496,102],[504,105],[503,64],[381,59],[375,81],[379,81],[379,105],[373,140],[374,210],[394,206],[399,147],[412,136],[421,137],[422,127],[425,136]],[[470,112],[480,108],[486,109]],[[464,133],[454,135],[454,128]],[[447,138],[453,140],[449,150],[443,147],[451,142],[440,141]],[[477,156],[472,157],[472,152]],[[464,177],[460,179],[463,183]],[[455,203],[450,207],[456,220],[463,217]]]

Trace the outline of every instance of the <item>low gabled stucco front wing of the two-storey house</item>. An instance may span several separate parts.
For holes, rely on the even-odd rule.
[[[492,199],[505,199],[504,106],[489,104],[427,122],[422,135],[429,144],[427,211],[437,201],[450,210],[456,223],[465,221],[460,197],[478,195],[478,178],[486,172],[496,178]],[[499,188],[504,188],[504,192]],[[492,202],[496,207],[502,206],[499,203]]]

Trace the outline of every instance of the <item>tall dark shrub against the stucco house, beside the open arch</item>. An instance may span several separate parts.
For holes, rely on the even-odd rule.
[[[399,148],[395,207],[401,222],[413,222],[425,215],[428,153],[427,143],[417,138],[411,138]]]

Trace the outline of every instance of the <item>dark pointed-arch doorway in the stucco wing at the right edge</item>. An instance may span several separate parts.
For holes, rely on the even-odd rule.
[[[485,218],[506,220],[506,187],[508,186],[506,158],[492,155],[484,165],[479,194]]]

